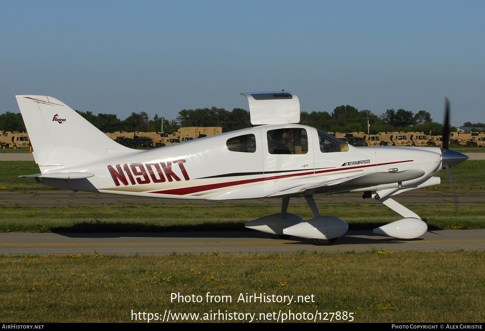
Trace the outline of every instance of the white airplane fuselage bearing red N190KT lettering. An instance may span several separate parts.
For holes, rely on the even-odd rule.
[[[286,145],[275,142],[281,133]],[[379,191],[415,185],[441,170],[439,148],[340,148],[325,144],[327,136],[305,125],[262,125],[154,150],[113,151],[98,162],[40,168],[94,174],[43,179],[74,191],[209,200]]]

